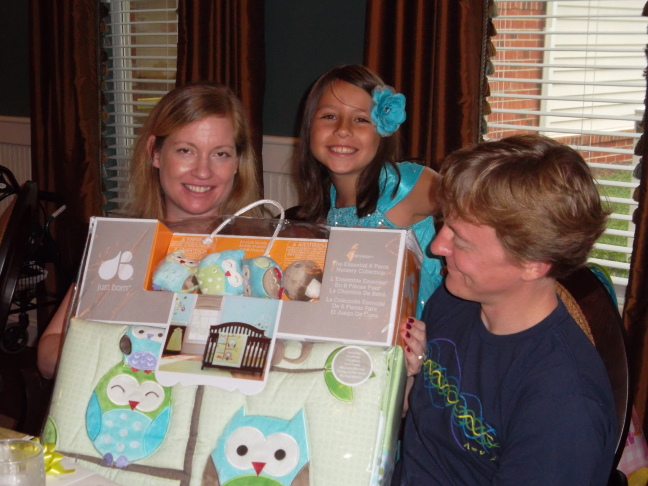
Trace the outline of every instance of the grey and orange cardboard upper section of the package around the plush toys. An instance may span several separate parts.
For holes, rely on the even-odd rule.
[[[153,275],[168,255],[182,251],[184,258],[199,262],[212,253],[240,251],[250,258],[263,255],[269,245],[268,256],[284,272],[276,325],[280,338],[390,346],[397,343],[398,324],[414,315],[422,253],[409,231],[334,227],[328,239],[272,242],[268,236],[207,236],[173,233],[156,220],[93,218],[76,316],[167,326],[174,296],[184,295],[153,290]],[[296,264],[317,269],[317,278],[309,281]],[[293,268],[298,271],[288,274]],[[227,290],[237,273],[244,279],[239,271],[223,277],[222,299],[242,295]],[[315,293],[305,295],[313,284]],[[205,297],[198,294],[190,310],[200,308]],[[237,299],[239,305],[245,298]],[[208,330],[203,334],[207,338]]]

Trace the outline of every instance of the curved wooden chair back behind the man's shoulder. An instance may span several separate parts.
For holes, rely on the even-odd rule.
[[[619,432],[608,486],[627,485],[625,475],[617,470],[628,435],[632,409],[623,320],[605,285],[588,267],[560,279],[558,295],[594,343],[610,378]]]

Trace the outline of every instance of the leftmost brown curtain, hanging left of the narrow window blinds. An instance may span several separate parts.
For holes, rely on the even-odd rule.
[[[30,0],[32,179],[63,196],[52,232],[69,276],[102,214],[95,0]]]

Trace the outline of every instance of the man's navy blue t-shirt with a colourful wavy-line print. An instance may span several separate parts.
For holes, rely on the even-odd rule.
[[[605,367],[562,302],[491,334],[479,304],[441,286],[392,486],[605,485],[617,436]]]

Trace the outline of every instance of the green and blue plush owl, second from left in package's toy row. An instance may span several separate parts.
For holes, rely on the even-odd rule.
[[[206,295],[242,295],[243,250],[225,250],[206,255],[198,264],[198,287]]]

